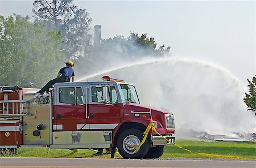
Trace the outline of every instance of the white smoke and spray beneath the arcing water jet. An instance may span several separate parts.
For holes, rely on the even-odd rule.
[[[137,87],[141,104],[169,109],[176,129],[208,133],[256,132],[255,117],[242,98],[246,86],[215,64],[184,58],[141,61],[84,76],[80,81],[120,77]]]

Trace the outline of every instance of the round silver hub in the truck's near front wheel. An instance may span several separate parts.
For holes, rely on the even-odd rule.
[[[133,154],[134,150],[138,149],[141,141],[137,136],[129,135],[123,140],[123,149],[129,154]]]

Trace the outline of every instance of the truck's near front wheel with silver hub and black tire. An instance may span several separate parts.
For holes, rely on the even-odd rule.
[[[143,139],[143,132],[137,129],[129,129],[123,131],[118,137],[117,148],[119,154],[123,158],[143,158],[149,149],[149,140],[146,139],[144,144],[135,153],[134,150],[138,149],[139,144]]]

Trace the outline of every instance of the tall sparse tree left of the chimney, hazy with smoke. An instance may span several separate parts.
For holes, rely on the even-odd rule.
[[[33,5],[35,22],[61,31],[67,58],[89,57],[92,36],[88,32],[92,18],[85,9],[74,5],[73,0],[37,0]]]

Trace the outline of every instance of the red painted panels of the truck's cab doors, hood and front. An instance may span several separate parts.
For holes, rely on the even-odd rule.
[[[62,124],[63,130],[54,131],[77,131],[77,124],[109,124],[125,122],[142,123],[147,127],[150,122],[150,114],[141,114],[135,117],[134,112],[148,112],[150,108],[139,104],[89,104],[88,119],[85,118],[85,105],[54,105],[53,106],[53,124]],[[152,118],[158,122],[156,130],[163,134],[172,134],[174,130],[166,130],[165,116],[166,111],[151,107]],[[162,124],[161,124],[162,123]],[[153,133],[154,135],[156,133]]]

